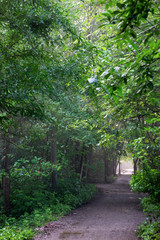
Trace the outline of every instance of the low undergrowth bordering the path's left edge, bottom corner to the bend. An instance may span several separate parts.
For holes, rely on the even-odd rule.
[[[18,210],[18,203],[12,212],[13,217],[7,218],[5,214],[1,213],[0,240],[29,240],[35,235],[36,227],[58,220],[59,217],[68,214],[72,209],[88,202],[95,193],[96,188],[93,185],[82,184],[79,180],[61,180],[57,191],[54,193],[48,192],[48,196],[50,196],[48,202],[45,201],[42,204],[39,197],[34,199],[34,202],[37,200],[39,202],[37,203],[37,208],[31,213],[25,212],[17,217],[16,211],[18,214],[22,211]],[[46,194],[47,192],[45,192]],[[25,196],[22,198],[24,198],[25,202]],[[46,197],[42,196],[42,199],[46,200]],[[26,209],[28,210],[28,207]]]

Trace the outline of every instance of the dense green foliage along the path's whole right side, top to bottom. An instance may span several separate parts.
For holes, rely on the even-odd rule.
[[[102,27],[109,29],[109,36],[103,89],[110,94],[109,101],[117,102],[110,101],[112,113],[119,127],[124,127],[123,136],[133,154],[136,175],[131,187],[148,195],[142,200],[147,219],[138,236],[159,239],[159,1],[110,1],[105,6]]]

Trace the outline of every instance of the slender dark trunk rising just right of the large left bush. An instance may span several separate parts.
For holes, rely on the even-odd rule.
[[[52,129],[51,132],[51,163],[56,164],[57,159],[56,159],[56,134],[55,134],[55,129]],[[57,188],[57,171],[53,170],[52,175],[51,175],[51,183],[52,183],[52,190],[55,190]]]

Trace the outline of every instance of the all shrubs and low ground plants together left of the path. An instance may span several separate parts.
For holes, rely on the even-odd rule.
[[[31,239],[33,229],[68,214],[96,192],[94,186],[83,184],[76,175],[60,179],[53,192],[48,183],[51,171],[51,164],[37,157],[14,163],[10,176],[11,217],[0,209],[0,240]]]

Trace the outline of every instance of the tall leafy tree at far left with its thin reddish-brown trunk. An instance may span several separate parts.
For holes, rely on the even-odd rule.
[[[2,134],[9,139],[7,126],[16,117],[46,117],[45,99],[55,93],[53,84],[62,78],[64,64],[55,47],[64,49],[64,42],[78,36],[58,1],[3,0],[0,13],[0,120]],[[6,142],[4,195],[9,215],[10,152]]]

